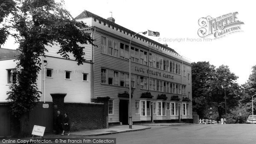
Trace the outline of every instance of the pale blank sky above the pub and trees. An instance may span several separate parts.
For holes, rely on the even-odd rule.
[[[166,43],[180,55],[192,62],[209,61],[218,67],[229,66],[244,84],[256,65],[255,10],[252,2],[241,0],[64,0],[65,7],[73,17],[84,10],[103,18],[111,16],[115,23],[134,32],[149,30],[160,32],[160,37],[151,37]],[[238,12],[237,20],[244,22],[241,32],[235,32],[215,40],[198,36],[198,20]],[[176,39],[176,40],[175,40]],[[182,41],[181,41],[182,40]],[[14,39],[9,38],[3,48],[16,49]]]

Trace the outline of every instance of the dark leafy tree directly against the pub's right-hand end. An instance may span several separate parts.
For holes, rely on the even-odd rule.
[[[215,74],[215,66],[209,62],[202,61],[192,63],[192,95],[193,111],[197,112],[200,118],[205,118],[209,109],[210,90],[209,84]]]

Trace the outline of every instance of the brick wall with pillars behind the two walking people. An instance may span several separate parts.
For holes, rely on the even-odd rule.
[[[108,97],[95,98],[93,103],[64,103],[66,94],[51,94],[55,117],[57,110],[66,112],[70,119],[70,130],[108,128]]]

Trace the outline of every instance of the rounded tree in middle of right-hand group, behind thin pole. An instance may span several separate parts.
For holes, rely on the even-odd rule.
[[[241,89],[237,84],[238,76],[230,72],[228,66],[221,65],[216,69],[214,78],[210,83],[211,101],[218,108],[219,118],[225,113],[225,92],[227,100],[227,113],[230,109],[237,107],[241,95]]]

